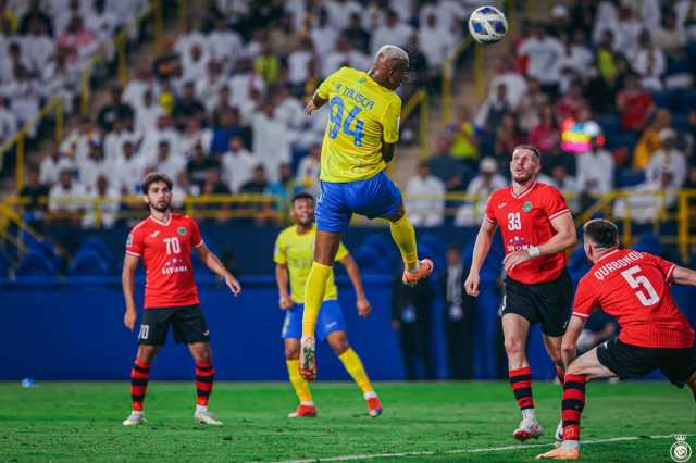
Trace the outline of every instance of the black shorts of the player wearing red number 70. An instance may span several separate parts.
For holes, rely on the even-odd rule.
[[[208,324],[199,305],[146,309],[138,341],[141,345],[164,346],[170,325],[174,328],[174,341],[177,343],[210,341]]]

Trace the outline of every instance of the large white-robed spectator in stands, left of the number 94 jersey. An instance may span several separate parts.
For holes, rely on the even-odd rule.
[[[271,101],[266,101],[253,116],[251,136],[253,154],[264,164],[269,179],[276,182],[278,166],[290,162],[291,135],[285,124],[275,117]]]

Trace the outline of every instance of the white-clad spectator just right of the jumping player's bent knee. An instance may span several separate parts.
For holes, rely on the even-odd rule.
[[[436,227],[445,222],[445,184],[431,174],[427,161],[406,186],[406,211],[414,226]]]

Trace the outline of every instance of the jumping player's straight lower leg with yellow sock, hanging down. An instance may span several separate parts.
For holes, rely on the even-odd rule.
[[[302,339],[300,341],[300,375],[307,380],[316,379],[316,318],[324,301],[326,281],[333,272],[338,252],[340,233],[316,230],[314,261],[304,284],[304,313],[302,314]]]

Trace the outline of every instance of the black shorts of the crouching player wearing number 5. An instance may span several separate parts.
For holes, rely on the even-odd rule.
[[[613,338],[597,347],[597,359],[621,379],[645,376],[659,370],[680,388],[696,373],[696,346],[681,349],[644,348]]]

